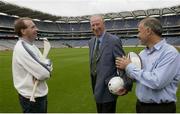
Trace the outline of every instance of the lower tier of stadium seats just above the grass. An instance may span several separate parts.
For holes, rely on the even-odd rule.
[[[179,46],[179,37],[166,37],[166,41],[172,45]],[[123,46],[137,46],[140,45],[138,38],[125,38],[121,39]],[[76,47],[88,47],[89,40],[50,40],[52,48],[76,48]],[[2,40],[0,39],[0,50],[13,49],[17,40]],[[43,48],[43,41],[35,41],[35,45],[38,48]]]

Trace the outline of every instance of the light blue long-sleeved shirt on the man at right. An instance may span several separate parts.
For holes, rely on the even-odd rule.
[[[165,40],[139,54],[143,68],[130,63],[127,74],[136,80],[136,96],[145,103],[176,102],[180,80],[180,54]]]

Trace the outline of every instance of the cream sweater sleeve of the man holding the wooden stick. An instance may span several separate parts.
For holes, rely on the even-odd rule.
[[[17,61],[22,67],[38,80],[46,80],[50,77],[50,71],[46,66],[34,59],[23,47],[16,50]],[[40,59],[39,59],[40,60]]]

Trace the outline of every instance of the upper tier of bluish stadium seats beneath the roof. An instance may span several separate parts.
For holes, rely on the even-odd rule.
[[[180,25],[180,15],[158,17],[163,26]],[[0,16],[0,26],[13,27],[16,18],[10,16]],[[125,20],[108,20],[105,21],[107,29],[123,29],[123,28],[137,28],[141,19],[125,19]],[[56,23],[56,22],[41,22],[35,21],[39,30],[43,31],[89,31],[89,22],[84,23]]]

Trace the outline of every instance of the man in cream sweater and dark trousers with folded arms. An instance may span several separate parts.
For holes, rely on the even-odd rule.
[[[12,72],[14,86],[24,113],[46,113],[48,86],[51,66],[41,61],[42,54],[33,44],[37,37],[37,27],[30,18],[15,21],[15,33],[19,36],[13,51]],[[34,94],[36,102],[29,100],[35,80],[39,83]]]

